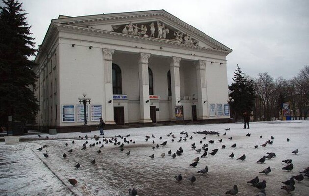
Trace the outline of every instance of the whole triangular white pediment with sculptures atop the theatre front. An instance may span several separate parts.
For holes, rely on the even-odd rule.
[[[232,49],[164,10],[63,17],[53,22],[232,52]]]

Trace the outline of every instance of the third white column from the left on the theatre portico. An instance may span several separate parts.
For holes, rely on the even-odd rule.
[[[179,75],[179,63],[181,58],[173,56],[170,60],[170,70],[171,70],[171,90],[172,90],[172,100],[171,100],[171,120],[175,121],[175,105],[181,105],[180,101],[180,75]]]

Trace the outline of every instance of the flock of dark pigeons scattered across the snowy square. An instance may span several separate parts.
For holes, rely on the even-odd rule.
[[[225,130],[229,131],[230,128],[225,129]],[[204,157],[207,157],[209,155],[215,156],[216,153],[218,153],[218,151],[219,151],[219,149],[213,149],[213,150],[211,150],[211,152],[208,151],[209,144],[213,144],[214,140],[209,140],[208,141],[209,144],[206,143],[205,140],[207,138],[207,135],[217,135],[217,136],[220,136],[220,134],[219,134],[219,132],[215,132],[215,131],[197,131],[197,132],[193,132],[193,134],[203,134],[203,135],[205,135],[199,142],[197,142],[197,144],[195,142],[193,142],[192,144],[190,143],[190,147],[192,148],[192,150],[194,150],[195,153],[198,154],[199,156],[196,157],[193,160],[193,162],[191,164],[189,164],[188,167],[196,168],[198,166],[198,163],[199,163],[200,159],[202,159]],[[157,139],[157,138],[154,136],[154,134],[152,134],[151,136],[150,135],[146,135],[145,136],[145,142],[153,143],[153,147],[152,147],[151,150],[154,151],[155,149],[158,149],[160,147],[164,147],[164,146],[168,145],[168,143],[170,143],[170,142],[181,143],[183,141],[191,141],[193,139],[192,135],[189,136],[189,134],[187,132],[184,132],[184,131],[180,132],[180,135],[181,135],[180,137],[177,137],[176,134],[173,133],[173,132],[167,134],[166,136],[168,137],[168,140],[170,140],[169,142],[168,142],[168,140],[165,140],[166,137],[163,139],[162,136],[160,136],[158,139],[160,141],[162,141],[162,142],[159,142],[159,143],[155,142],[155,139]],[[227,133],[225,132],[223,134],[223,136],[226,136],[226,135],[227,135]],[[251,134],[248,133],[248,134],[246,134],[246,136],[250,137]],[[100,154],[101,153],[101,149],[104,147],[104,144],[105,145],[109,144],[109,145],[114,145],[115,147],[118,147],[120,152],[124,152],[124,150],[126,148],[126,145],[128,145],[129,143],[135,144],[135,141],[130,140],[129,137],[130,137],[130,135],[126,135],[126,136],[118,135],[118,136],[111,137],[110,139],[107,139],[107,138],[104,138],[104,137],[100,138],[100,136],[96,136],[95,135],[94,138],[93,138],[95,140],[95,142],[88,143],[88,136],[87,135],[85,136],[85,138],[79,136],[79,138],[81,140],[85,139],[85,142],[83,143],[82,147],[80,147],[80,149],[81,150],[86,150],[87,147],[92,148],[92,147],[95,147],[96,145],[98,145],[98,146],[100,146],[100,148],[97,150],[97,153]],[[198,137],[198,136],[194,136],[194,137]],[[260,138],[262,138],[262,136],[260,136]],[[231,137],[229,137],[227,139],[232,140],[233,138],[231,136]],[[253,148],[257,149],[258,147],[266,147],[266,145],[272,145],[274,139],[275,138],[273,136],[271,136],[270,140],[267,140],[262,145],[253,146]],[[91,141],[92,141],[92,138],[91,138]],[[217,141],[222,143],[223,139],[220,138]],[[289,142],[290,139],[287,138],[286,141]],[[72,141],[72,144],[74,144],[74,140]],[[197,146],[198,144],[200,145],[199,147]],[[68,146],[68,143],[65,143],[65,146]],[[37,150],[42,151],[43,148],[47,148],[47,147],[49,147],[49,146],[48,145],[44,145],[43,147],[40,147]],[[231,147],[232,148],[236,148],[237,144],[234,143]],[[226,146],[222,145],[221,148],[224,149],[224,148],[226,148]],[[67,152],[68,153],[72,153],[72,151],[73,151],[73,149],[70,149]],[[45,152],[48,152],[48,151],[46,150]],[[183,150],[182,147],[180,147],[180,148],[178,148],[176,150],[176,152],[172,152],[172,150],[169,150],[169,151],[167,151],[167,154],[165,154],[165,152],[163,152],[163,153],[160,154],[160,156],[161,156],[161,158],[167,158],[166,157],[166,155],[167,155],[167,156],[171,157],[172,159],[175,159],[178,156],[182,156],[183,153],[184,153],[184,150]],[[291,153],[294,153],[296,155],[298,153],[298,150],[296,149],[296,150],[294,150]],[[126,151],[125,154],[127,156],[130,156],[131,151]],[[44,155],[45,158],[49,157],[48,153],[43,153],[43,155]],[[67,157],[67,153],[63,153],[62,156],[65,159]],[[229,157],[231,159],[233,159],[234,156],[235,155],[232,153],[232,154],[230,154]],[[151,159],[154,159],[155,158],[154,153],[149,155],[149,157]],[[264,164],[266,159],[272,159],[274,157],[276,157],[276,154],[274,152],[268,152],[267,155],[265,155],[262,158],[260,158],[259,160],[257,160],[256,163],[257,164]],[[240,156],[236,160],[245,161],[246,160],[246,155],[243,154],[242,156]],[[282,168],[282,170],[286,170],[286,171],[293,170],[292,159],[286,159],[286,160],[283,160],[282,162],[287,164],[286,166],[284,166]],[[91,160],[91,164],[96,164],[95,159]],[[81,165],[79,163],[77,163],[74,167],[76,168],[76,170],[78,170],[81,167]],[[207,172],[208,172],[208,166],[203,166],[199,170],[196,171],[197,174],[202,174],[202,175],[207,174]],[[259,173],[268,175],[270,172],[271,172],[271,167],[268,166],[267,168],[265,168],[263,171],[261,171]],[[287,193],[290,193],[290,192],[294,191],[295,190],[295,180],[298,181],[298,182],[302,181],[304,179],[303,174],[304,174],[304,176],[307,176],[307,178],[309,178],[309,167],[306,168],[304,171],[300,172],[299,175],[291,176],[290,179],[288,179],[287,181],[282,182],[284,185],[281,186],[281,189],[285,190]],[[183,181],[183,179],[184,179],[182,174],[178,174],[174,178],[175,178],[177,183],[181,183]],[[197,180],[195,175],[191,175],[188,179],[189,179],[189,181],[192,184]],[[75,186],[77,184],[77,180],[76,179],[69,179],[69,182],[73,186]],[[258,190],[260,192],[256,196],[266,196],[266,180],[263,180],[263,181],[260,182],[259,177],[256,176],[254,179],[248,181],[247,183],[251,184],[251,186],[253,186],[253,187],[258,188]],[[237,193],[238,193],[237,185],[234,185],[231,190],[228,190],[228,191],[225,192],[225,194],[229,194],[229,195],[237,195]],[[135,188],[130,188],[129,189],[129,195],[136,196],[137,195],[137,190]]]

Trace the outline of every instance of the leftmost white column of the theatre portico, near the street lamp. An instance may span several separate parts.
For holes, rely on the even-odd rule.
[[[103,75],[105,83],[105,91],[103,97],[105,98],[105,124],[115,124],[114,121],[114,104],[113,104],[113,73],[112,73],[112,59],[114,49],[103,49]],[[112,101],[108,103],[108,101]],[[102,108],[103,109],[103,108]],[[102,111],[103,113],[104,111]]]

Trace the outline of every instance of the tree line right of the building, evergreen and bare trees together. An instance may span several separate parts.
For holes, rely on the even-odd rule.
[[[229,95],[231,115],[237,121],[245,111],[252,111],[254,120],[279,118],[283,103],[290,102],[292,116],[307,119],[309,113],[309,65],[304,66],[294,78],[274,79],[267,72],[257,78],[246,76],[237,65]],[[240,102],[240,103],[239,103]]]

